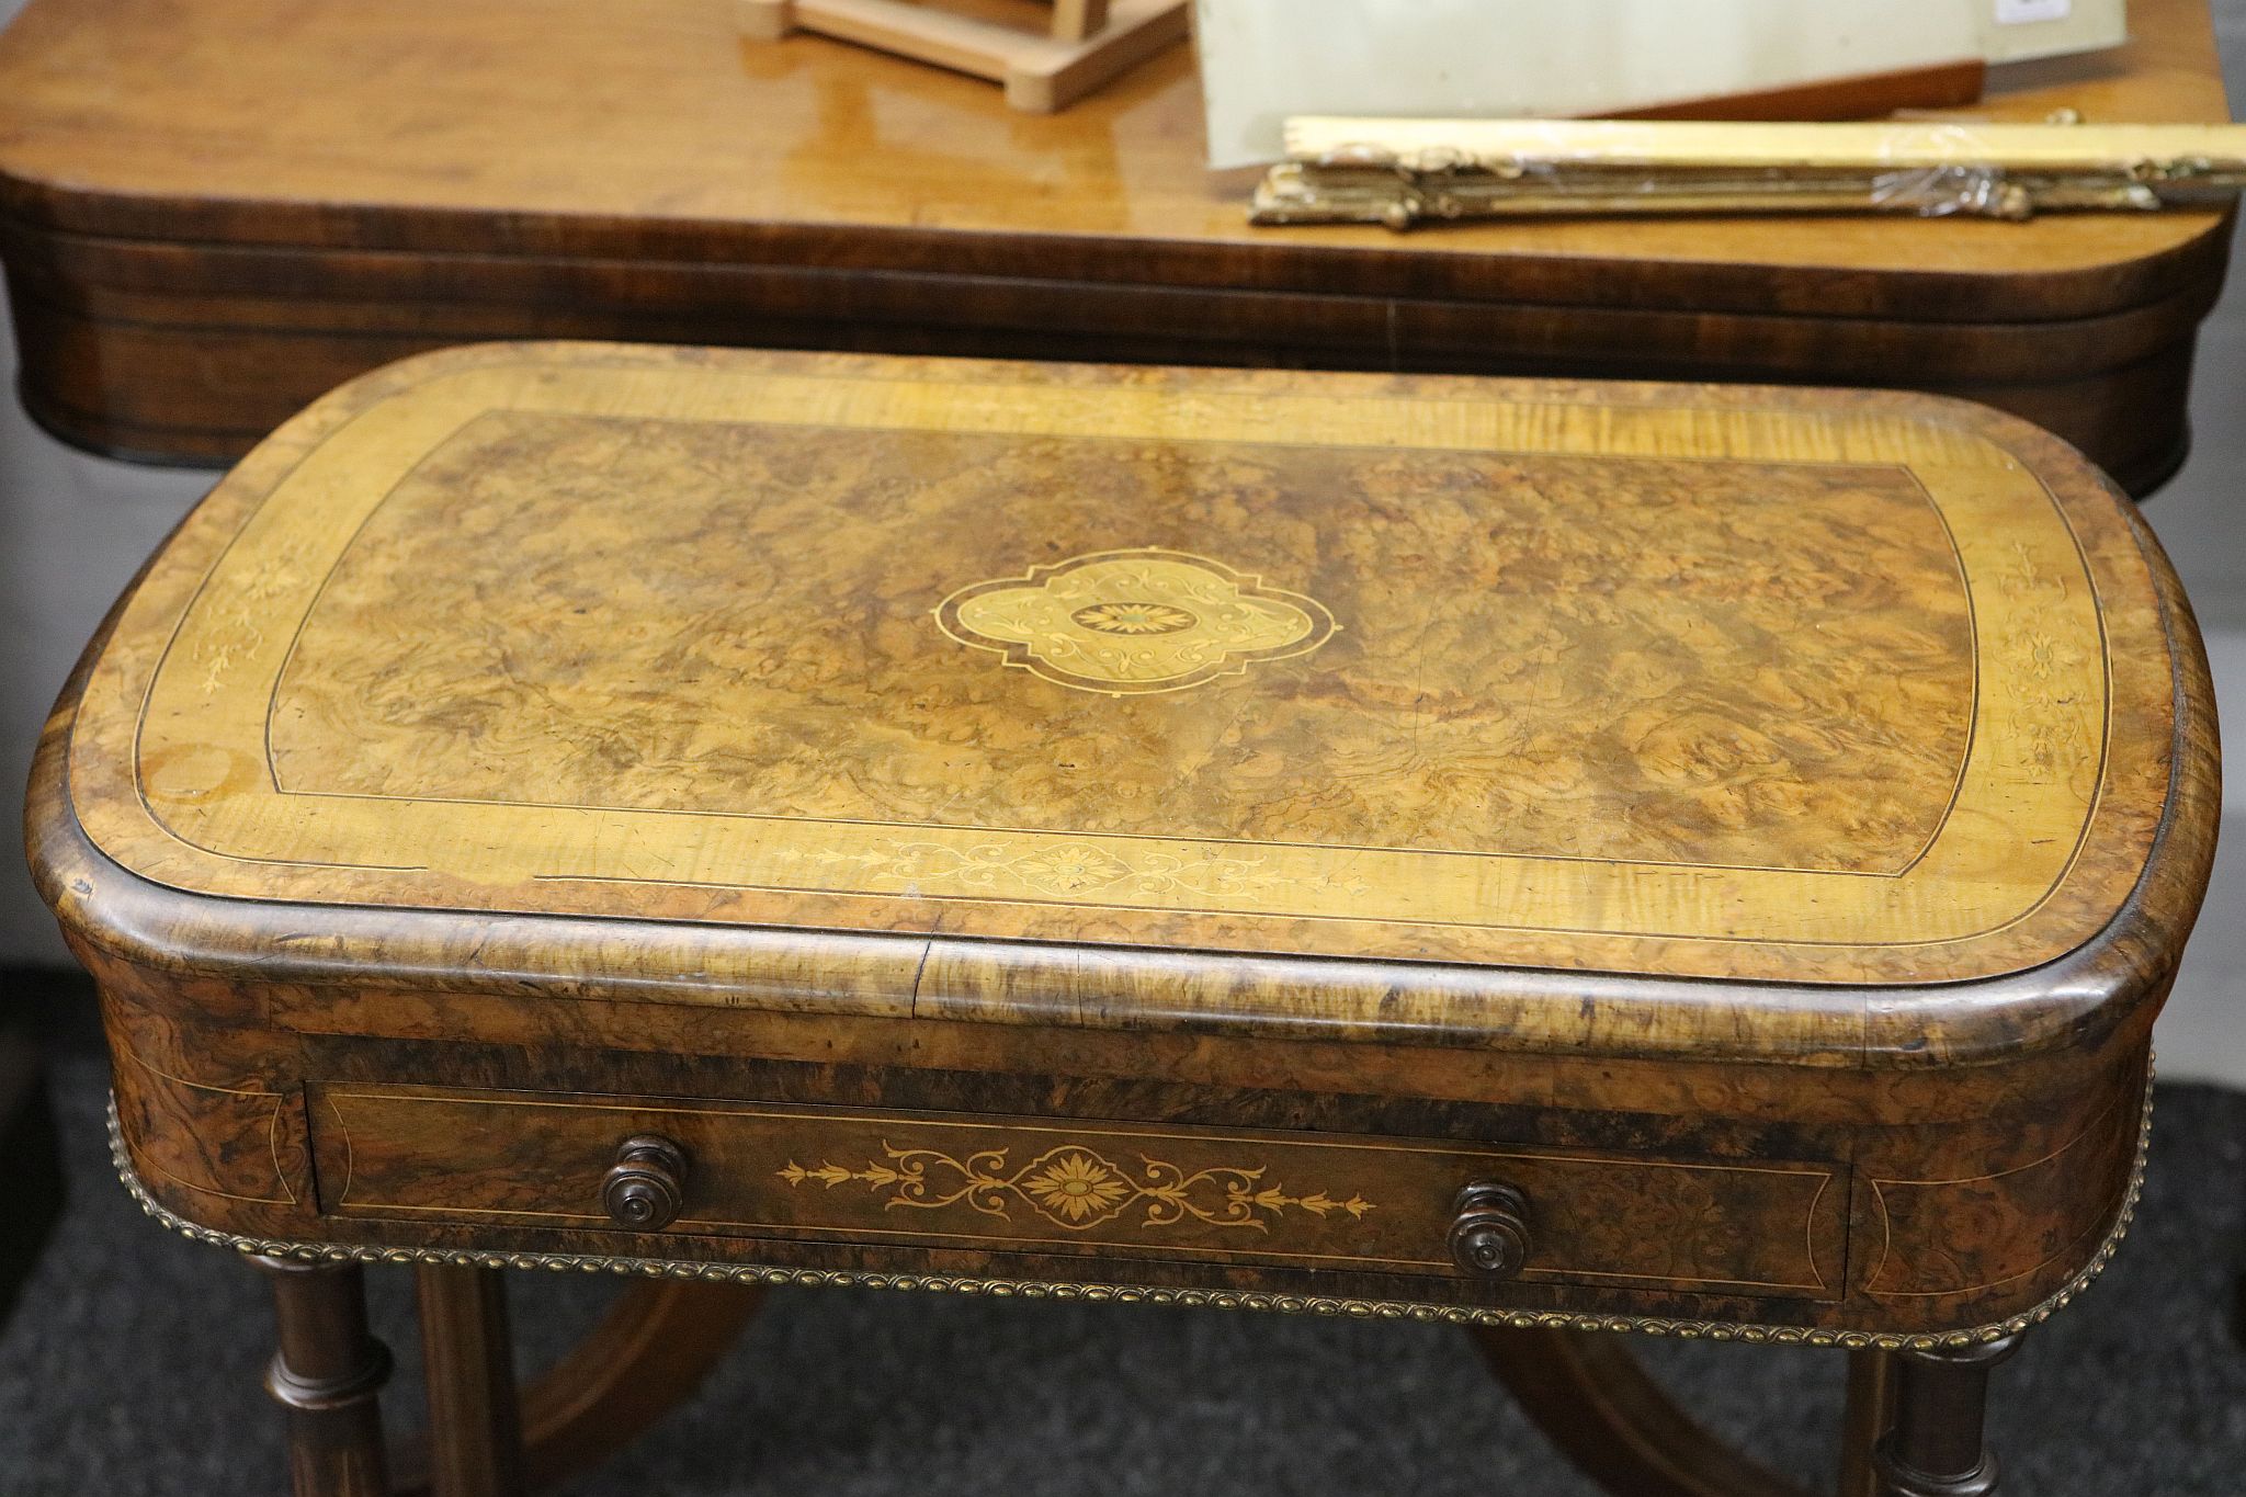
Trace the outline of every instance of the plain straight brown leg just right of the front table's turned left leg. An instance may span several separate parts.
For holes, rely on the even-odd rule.
[[[499,1268],[422,1264],[422,1369],[429,1380],[429,1490],[523,1497],[523,1423]]]

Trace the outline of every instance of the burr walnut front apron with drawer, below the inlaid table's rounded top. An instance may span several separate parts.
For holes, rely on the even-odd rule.
[[[2147,1059],[2143,1026],[1916,1075],[1516,1057],[1451,1102],[1424,1100],[1444,1055],[1404,1046],[1199,1041],[1179,1064],[1148,1039],[1101,1055],[1065,1032],[916,1019],[885,1026],[883,1064],[853,1037],[862,1021],[820,1019],[802,1050],[820,1059],[775,1062],[757,1059],[788,1048],[770,1014],[411,1005],[88,956],[112,1039],[148,1050],[171,1032],[177,1075],[270,1082],[310,1136],[310,1151],[227,1154],[229,1185],[198,1190],[166,1163],[200,1122],[121,1093],[144,1190],[256,1241],[1822,1338],[2044,1313],[2131,1203]],[[948,1028],[1008,1044],[970,1059]],[[838,1053],[853,1059],[824,1059]],[[642,1133],[685,1156],[683,1212],[660,1228],[602,1210],[604,1172]],[[1446,1261],[1460,1187],[1491,1178],[1530,1201],[1512,1279]]]

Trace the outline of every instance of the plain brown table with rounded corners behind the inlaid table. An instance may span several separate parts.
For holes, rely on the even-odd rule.
[[[2206,0],[1985,114],[2226,119]],[[1249,229],[1179,47],[1056,114],[721,0],[34,0],[0,38],[22,395],[220,462],[328,386],[514,337],[1907,386],[2185,451],[2228,215]]]

